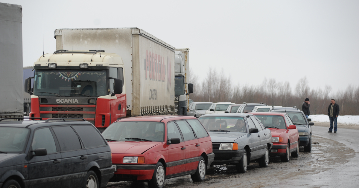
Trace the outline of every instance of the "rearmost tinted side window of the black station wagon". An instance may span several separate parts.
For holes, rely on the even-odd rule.
[[[105,146],[106,143],[102,136],[92,125],[73,126],[77,134],[80,136],[85,148],[96,148]]]

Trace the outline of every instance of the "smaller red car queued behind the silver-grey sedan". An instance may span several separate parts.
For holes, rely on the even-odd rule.
[[[285,113],[250,112],[272,133],[273,147],[269,156],[280,156],[282,162],[289,161],[289,154],[299,156],[299,134],[293,121]],[[298,121],[298,120],[297,120]]]

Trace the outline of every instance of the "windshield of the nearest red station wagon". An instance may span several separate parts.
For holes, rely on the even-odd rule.
[[[114,122],[102,132],[107,141],[164,141],[164,124],[153,121]]]

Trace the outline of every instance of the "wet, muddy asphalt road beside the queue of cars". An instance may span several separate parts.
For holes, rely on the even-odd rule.
[[[300,148],[299,158],[283,163],[270,158],[267,168],[251,162],[247,173],[237,173],[234,166],[215,165],[206,179],[194,183],[190,175],[166,179],[164,188],[202,187],[359,187],[359,130],[340,129],[328,133],[327,127],[312,126],[312,152]],[[108,187],[144,187],[146,182],[109,183]]]

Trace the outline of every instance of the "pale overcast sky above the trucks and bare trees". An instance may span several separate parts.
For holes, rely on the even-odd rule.
[[[234,85],[260,85],[266,77],[295,88],[307,76],[311,88],[327,84],[336,93],[359,83],[357,0],[0,2],[22,5],[24,66],[43,47],[55,51],[55,29],[137,27],[190,48],[190,68],[200,79],[211,67],[223,68]]]

